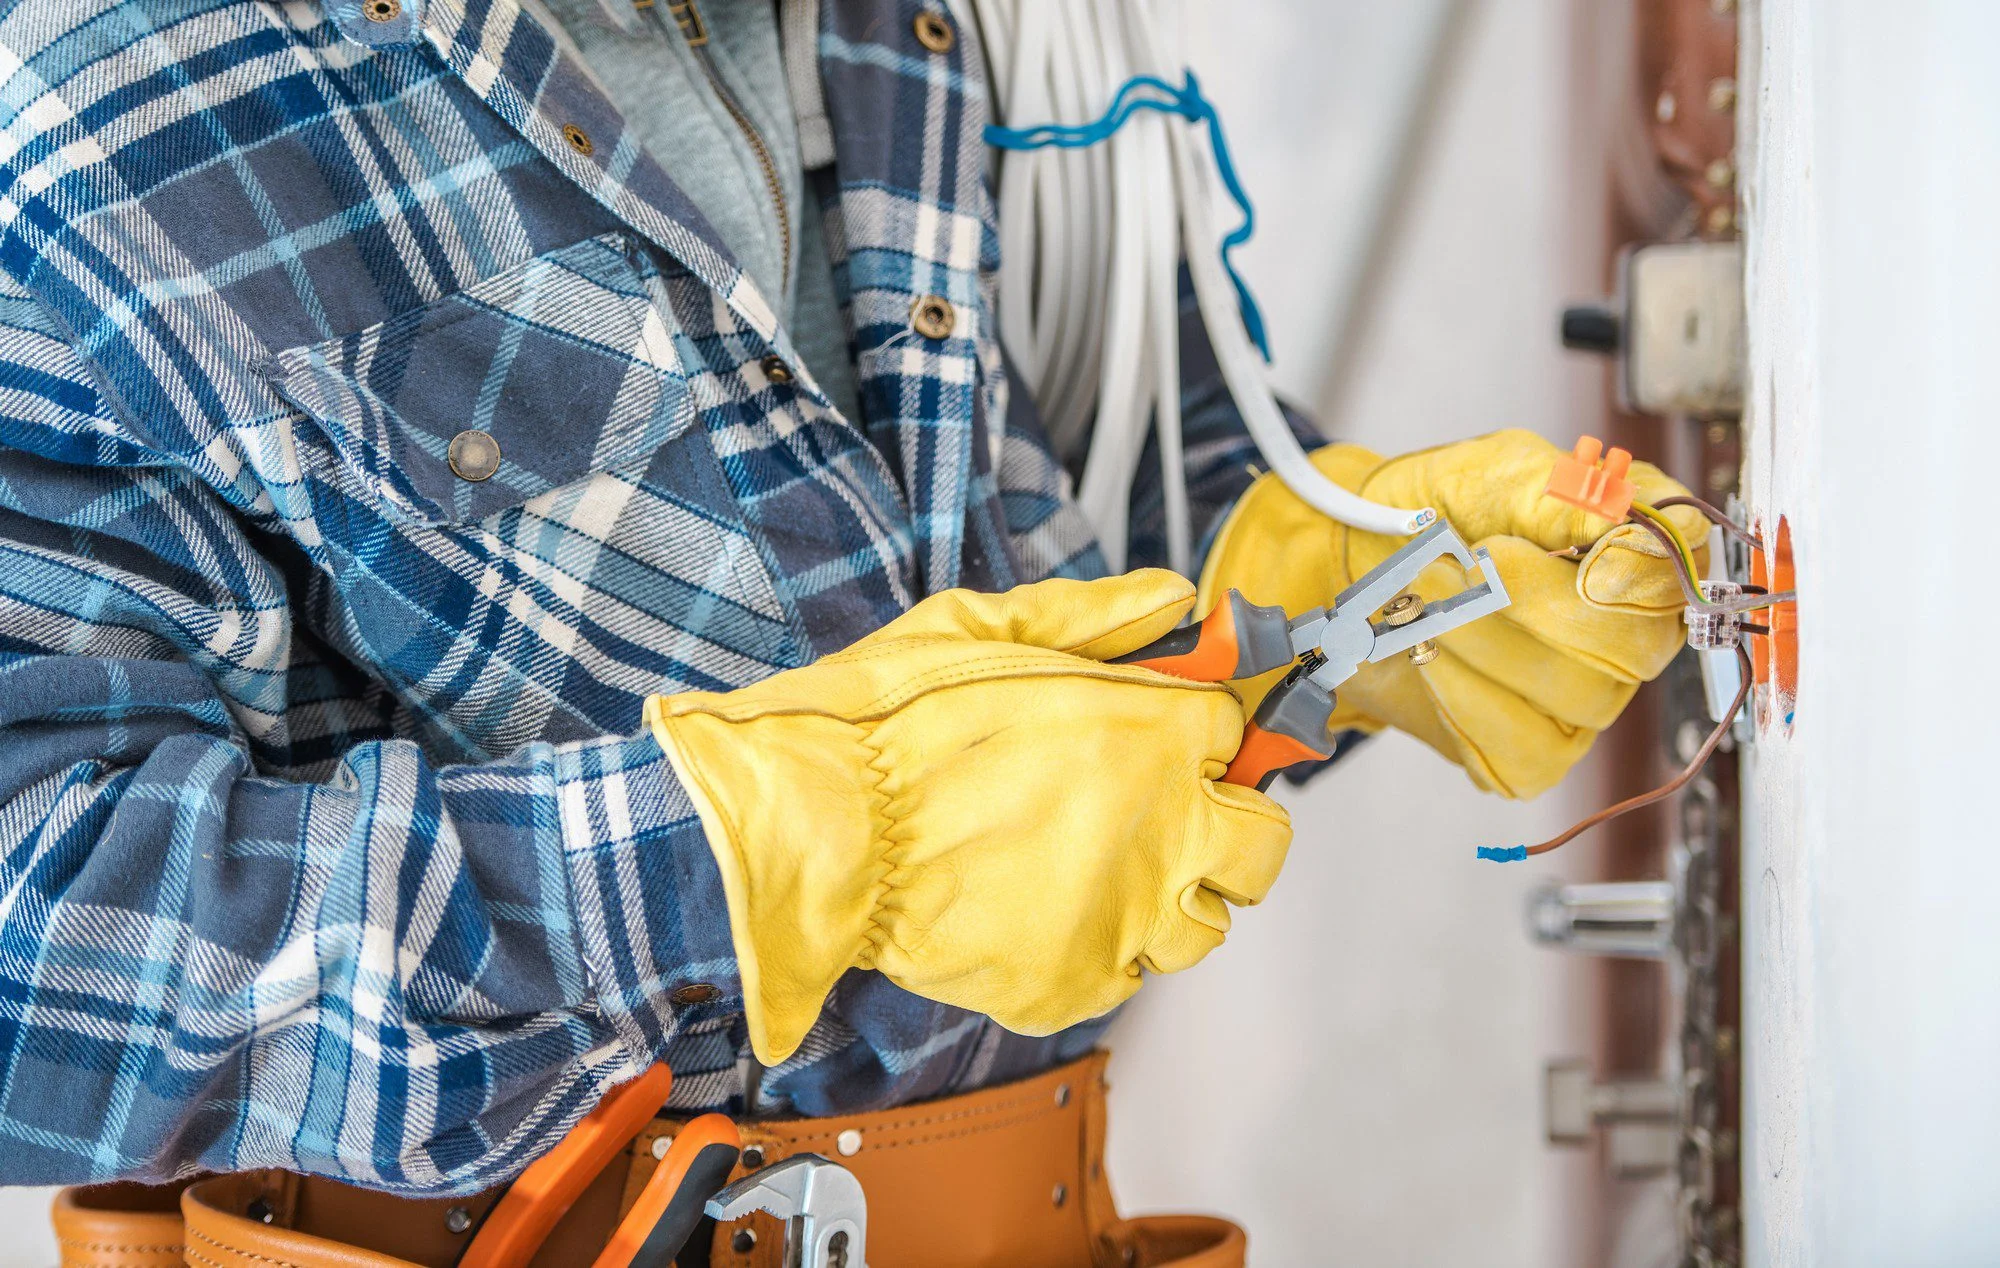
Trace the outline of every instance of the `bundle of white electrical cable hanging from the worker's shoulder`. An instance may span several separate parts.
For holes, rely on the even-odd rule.
[[[950,0],[978,26],[994,120],[1088,124],[1132,76],[1182,78],[1180,0]],[[1106,560],[1128,556],[1132,482],[1158,438],[1168,562],[1188,572],[1192,524],[1180,438],[1178,264],[1222,380],[1270,470],[1308,506],[1368,532],[1408,536],[1436,518],[1370,502],[1320,474],[1278,408],[1244,332],[1214,230],[1206,132],[1138,112],[1084,148],[1000,158],[1000,336],[1064,458],[1088,446],[1078,506]]]

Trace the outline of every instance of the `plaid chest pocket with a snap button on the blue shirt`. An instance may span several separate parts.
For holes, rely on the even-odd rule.
[[[602,234],[262,368],[388,514],[466,524],[694,424],[658,282],[630,238]]]

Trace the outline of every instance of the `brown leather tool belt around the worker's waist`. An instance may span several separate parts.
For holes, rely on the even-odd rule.
[[[742,1122],[746,1166],[734,1176],[792,1154],[838,1160],[868,1198],[872,1268],[1242,1268],[1244,1234],[1226,1220],[1118,1218],[1104,1176],[1104,1058],[878,1114]],[[590,1264],[652,1174],[654,1142],[678,1126],[656,1118],[640,1132],[534,1268]],[[54,1218],[64,1268],[452,1268],[500,1194],[400,1198],[240,1172],[70,1188]],[[754,1214],[714,1228],[708,1264],[780,1268],[782,1250],[782,1226]]]

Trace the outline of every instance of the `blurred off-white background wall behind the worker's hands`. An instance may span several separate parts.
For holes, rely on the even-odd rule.
[[[1598,262],[1570,224],[1568,6],[1474,8],[1360,372],[1322,402],[1342,438],[1384,450],[1516,424],[1566,440],[1602,382],[1554,338]],[[1196,70],[1258,200],[1244,258],[1276,376],[1310,402],[1358,202],[1438,6],[1190,10]],[[1114,1032],[1122,1204],[1232,1214],[1260,1268],[1564,1262],[1590,1162],[1546,1150],[1538,1096],[1542,1058],[1588,1052],[1574,966],[1522,934],[1524,890],[1552,868],[1472,850],[1546,836],[1592,796],[1578,778],[1500,802],[1400,736],[1288,796],[1298,840],[1272,898],[1200,968],[1148,984]]]

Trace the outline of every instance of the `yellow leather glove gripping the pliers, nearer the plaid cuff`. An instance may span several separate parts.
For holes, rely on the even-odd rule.
[[[1236,696],[1104,664],[1192,606],[1162,570],[950,590],[810,666],[648,702],[722,868],[758,1060],[848,968],[1050,1034],[1222,942],[1290,818],[1216,782]]]

